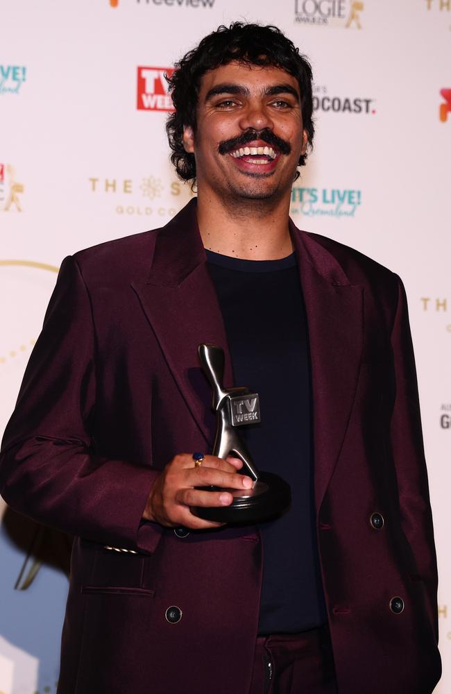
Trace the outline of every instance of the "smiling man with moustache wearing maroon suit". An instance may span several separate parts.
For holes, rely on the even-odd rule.
[[[76,536],[61,694],[432,692],[436,564],[405,293],[289,222],[312,73],[273,27],[220,27],[171,80],[198,196],[68,258],[5,435],[2,494]],[[259,391],[246,440],[287,514],[203,521],[246,489],[210,455],[197,346]]]

